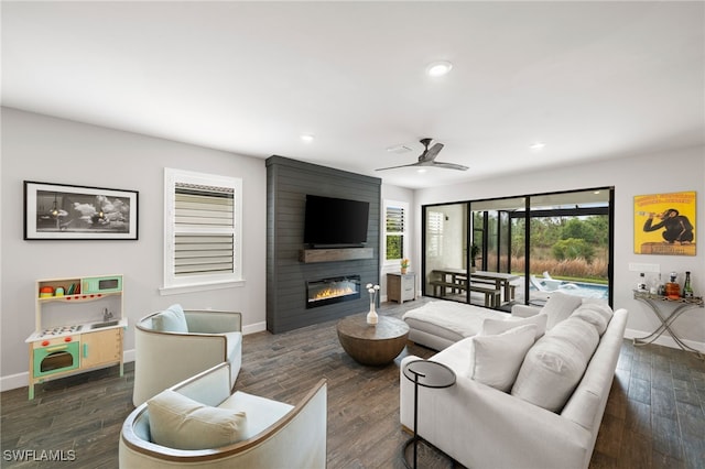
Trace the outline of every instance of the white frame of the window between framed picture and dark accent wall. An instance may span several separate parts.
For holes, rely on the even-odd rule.
[[[175,223],[175,193],[177,184],[195,184],[232,189],[232,220],[231,229],[195,229],[176,227]],[[176,276],[174,259],[175,236],[177,232],[216,232],[232,233],[232,271],[217,274],[199,274]],[[221,176],[194,171],[164,168],[164,273],[162,295],[200,292],[207,290],[228,288],[245,283],[242,275],[242,179],[239,177]]]

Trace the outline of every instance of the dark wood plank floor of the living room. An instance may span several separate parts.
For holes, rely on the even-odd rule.
[[[380,314],[399,317],[423,301],[384,304]],[[429,358],[434,351],[409,345],[402,356],[409,353]],[[259,332],[243,339],[236,386],[294,403],[324,377],[328,467],[402,468],[400,447],[409,436],[399,425],[400,360],[383,368],[356,363],[339,346],[335,321],[275,336]],[[113,367],[39,385],[33,401],[26,388],[1,393],[0,467],[117,468],[120,427],[132,411],[132,380],[133,367],[127,363],[122,378]],[[705,362],[625,340],[590,468],[705,468],[704,410]],[[73,460],[13,460],[17,455],[48,457],[45,451]],[[427,450],[420,462],[448,466]]]

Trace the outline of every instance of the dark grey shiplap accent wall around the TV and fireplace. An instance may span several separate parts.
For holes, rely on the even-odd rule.
[[[367,248],[372,259],[304,263],[306,194],[368,201]],[[306,282],[360,275],[362,287],[379,284],[381,179],[283,156],[267,160],[267,329],[279,334],[313,324],[367,313],[369,295],[359,299],[306,308]],[[247,220],[245,220],[247,222]]]

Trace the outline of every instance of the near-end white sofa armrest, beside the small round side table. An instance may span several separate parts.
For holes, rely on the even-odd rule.
[[[400,380],[401,423],[412,428],[414,386]],[[420,386],[417,408],[419,434],[466,467],[582,467],[592,449],[590,433],[576,423],[457,371],[451,388]]]

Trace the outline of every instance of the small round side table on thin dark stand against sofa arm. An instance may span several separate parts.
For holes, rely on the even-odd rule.
[[[455,384],[455,372],[443,363],[431,360],[414,360],[404,366],[404,377],[414,383],[414,436],[404,443],[401,450],[401,457],[404,466],[409,468],[406,462],[406,448],[413,443],[414,445],[414,469],[416,469],[419,440],[431,445],[429,441],[419,436],[419,386],[423,388],[451,388]],[[433,445],[431,445],[433,446]],[[434,446],[434,449],[435,446]]]

